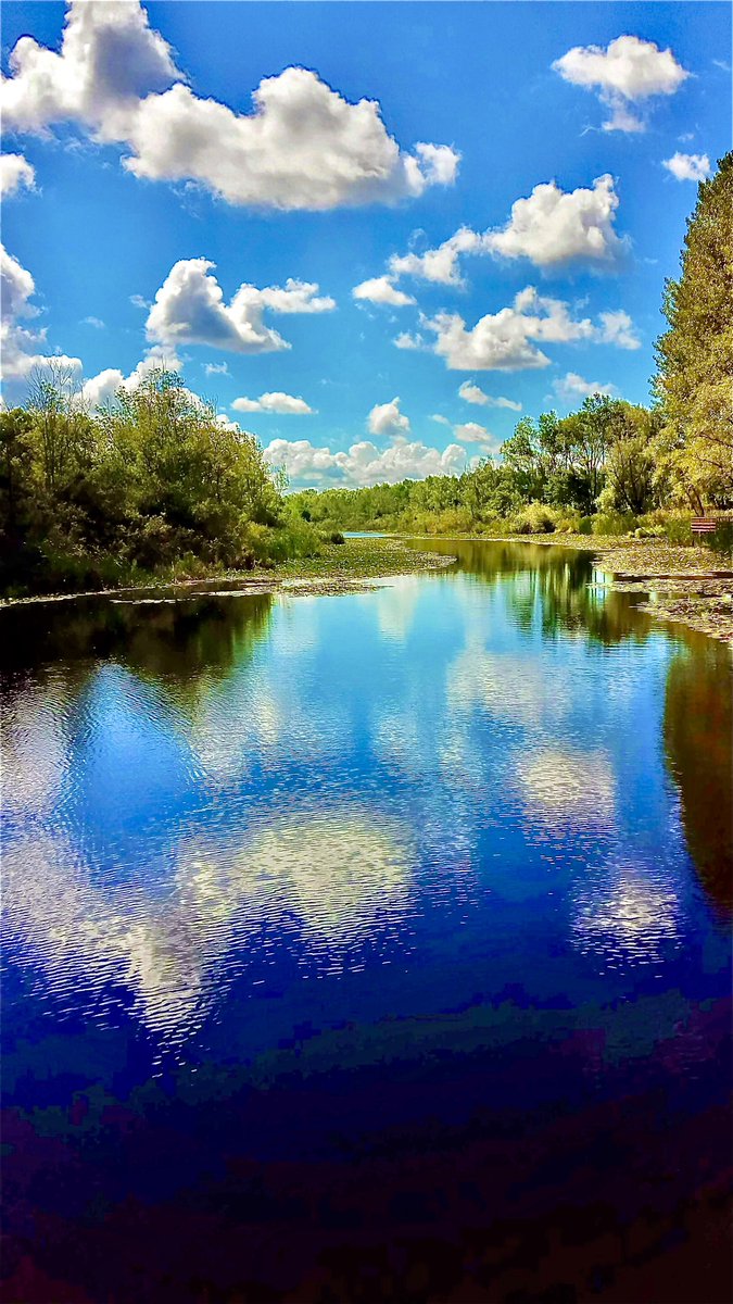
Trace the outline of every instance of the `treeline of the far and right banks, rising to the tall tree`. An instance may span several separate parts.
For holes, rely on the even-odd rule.
[[[292,496],[303,519],[344,529],[669,533],[733,506],[733,154],[699,186],[680,280],[665,286],[652,408],[592,395],[560,419],[524,417],[462,476]]]

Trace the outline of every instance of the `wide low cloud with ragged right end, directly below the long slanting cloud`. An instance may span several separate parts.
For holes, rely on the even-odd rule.
[[[458,313],[438,313],[432,319],[424,318],[423,325],[436,335],[433,352],[443,357],[451,370],[459,372],[519,372],[548,366],[549,357],[537,342],[639,347],[627,313],[600,313],[599,323],[590,317],[578,319],[566,303],[539,295],[533,286],[522,289],[511,308],[488,313],[471,330]]]

